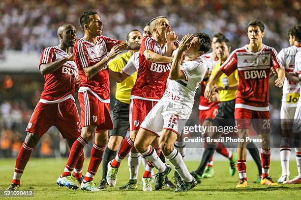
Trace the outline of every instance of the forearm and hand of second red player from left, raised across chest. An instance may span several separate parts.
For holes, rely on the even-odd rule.
[[[102,60],[100,60],[98,63],[95,65],[92,65],[90,67],[84,67],[83,70],[85,72],[85,75],[87,75],[88,78],[93,77],[96,75],[102,68],[106,66],[106,64],[114,58],[116,55],[122,52],[124,49],[123,44],[115,45],[111,51],[105,56]]]

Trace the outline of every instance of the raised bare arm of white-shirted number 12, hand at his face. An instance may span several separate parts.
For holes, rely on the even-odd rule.
[[[193,35],[191,34],[187,34],[182,38],[179,45],[179,50],[177,51],[177,54],[174,58],[174,61],[169,71],[169,76],[168,76],[169,79],[171,80],[185,79],[185,75],[181,71],[181,62],[185,51],[188,50],[191,46],[192,39],[193,39]]]

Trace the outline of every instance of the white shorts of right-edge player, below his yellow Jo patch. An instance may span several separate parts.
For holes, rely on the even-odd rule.
[[[280,119],[281,119],[281,129],[282,130],[291,130],[292,129],[295,111],[296,111],[296,107],[289,107],[286,105],[281,105]]]

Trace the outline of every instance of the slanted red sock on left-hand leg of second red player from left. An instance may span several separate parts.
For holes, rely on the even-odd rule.
[[[80,157],[83,156],[82,151],[87,144],[88,144],[88,142],[82,136],[79,136],[75,140],[75,142],[73,143],[73,145],[71,147],[69,158],[68,158],[67,164],[65,166],[65,168],[67,169],[68,172],[66,172],[66,170],[65,170],[63,173],[61,173],[61,175],[60,175],[61,177],[71,175],[71,172],[73,171],[74,166],[77,164]]]

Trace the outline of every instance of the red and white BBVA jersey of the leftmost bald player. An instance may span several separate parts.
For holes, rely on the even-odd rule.
[[[69,55],[57,46],[47,47],[42,52],[39,67],[41,64],[52,63],[67,56]],[[55,72],[44,75],[44,90],[40,102],[56,103],[73,99],[76,76],[77,68],[74,61],[67,61]]]

